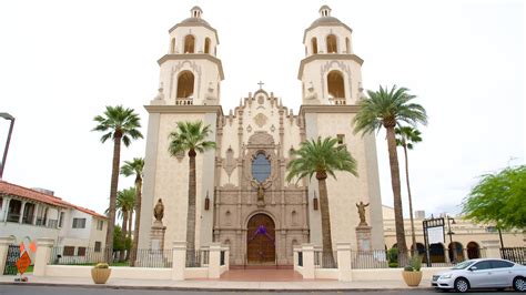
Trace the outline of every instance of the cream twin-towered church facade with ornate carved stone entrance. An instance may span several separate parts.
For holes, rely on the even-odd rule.
[[[194,7],[170,29],[168,53],[159,60],[159,94],[149,112],[140,248],[152,247],[153,207],[164,203],[164,248],[186,237],[189,157],[171,156],[169,134],[179,121],[201,120],[213,131],[214,151],[196,156],[196,247],[230,246],[230,262],[293,263],[293,247],[322,245],[317,181],[285,181],[292,151],[305,140],[333,136],[357,162],[358,176],[327,179],[333,245],[358,247],[356,203],[368,203],[368,248],[384,248],[382,205],[373,135],[353,134],[362,95],[363,60],[352,50],[352,30],[331,17],[326,6],[304,32],[306,57],[300,62],[302,106],[294,114],[272,92],[259,89],[234,110],[221,106],[218,31]],[[160,246],[160,245],[155,245]]]

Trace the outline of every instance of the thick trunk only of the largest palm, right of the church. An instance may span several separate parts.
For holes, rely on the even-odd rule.
[[[396,153],[394,125],[386,126],[385,129],[387,131],[387,148],[390,152],[391,185],[393,186],[396,245],[398,247],[398,266],[404,266],[407,262],[407,244],[405,243],[404,214],[402,211],[402,195],[399,190],[398,154]]]

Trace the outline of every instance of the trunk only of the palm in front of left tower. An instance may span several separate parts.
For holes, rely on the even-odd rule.
[[[186,262],[195,265],[195,151],[189,151],[189,208],[186,215]]]

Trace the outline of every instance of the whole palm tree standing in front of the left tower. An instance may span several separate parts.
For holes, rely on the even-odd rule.
[[[204,153],[215,149],[215,142],[206,141],[212,133],[210,125],[203,125],[202,121],[178,122],[175,131],[170,133],[170,155],[176,156],[188,152],[189,155],[189,204],[186,215],[186,243],[189,265],[195,261],[195,156],[198,152]]]

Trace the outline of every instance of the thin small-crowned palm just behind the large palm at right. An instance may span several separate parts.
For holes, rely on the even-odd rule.
[[[407,150],[413,150],[413,144],[422,141],[421,132],[412,126],[397,126],[395,128],[396,145],[404,149],[405,155],[405,180],[407,182],[407,197],[409,199],[409,217],[411,217],[411,238],[413,243],[413,252],[418,253],[416,247],[416,235],[415,235],[415,223],[413,221],[413,199],[411,197],[409,187],[409,161],[407,159]]]

